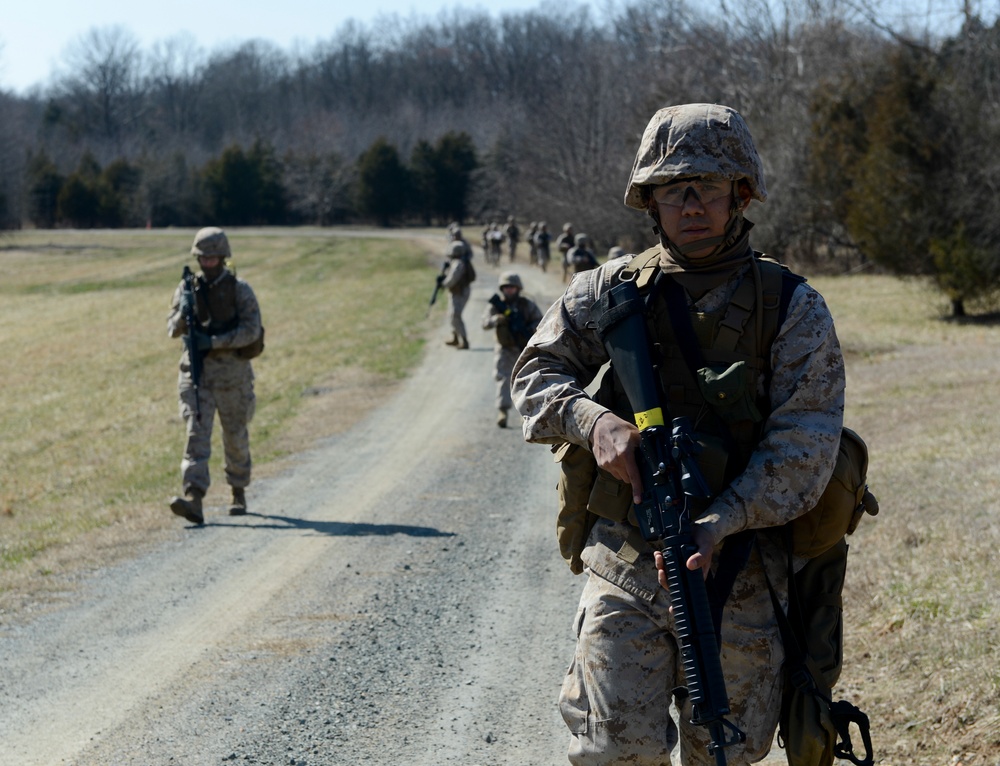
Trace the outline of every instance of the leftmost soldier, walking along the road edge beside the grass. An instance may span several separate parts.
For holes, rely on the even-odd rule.
[[[182,496],[170,510],[193,524],[203,524],[202,498],[210,483],[208,459],[212,425],[219,413],[225,451],[226,481],[232,487],[232,516],[247,511],[245,490],[250,483],[250,436],[256,399],[250,360],[263,349],[260,308],[253,290],[226,267],[231,255],[222,229],[201,229],[191,255],[201,275],[185,270],[174,291],[167,319],[171,338],[185,336],[177,385],[187,443],[181,461]],[[186,284],[187,282],[187,284]]]

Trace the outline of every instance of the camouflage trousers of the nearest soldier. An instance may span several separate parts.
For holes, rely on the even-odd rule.
[[[670,766],[679,744],[683,766],[715,764],[706,728],[690,723],[690,702],[673,699],[684,678],[668,610],[665,590],[649,601],[588,571],[576,654],[559,699],[573,734],[570,763]],[[747,735],[745,744],[725,752],[729,766],[741,766],[767,755],[781,705],[784,651],[756,551],[727,601],[722,644],[728,720]]]

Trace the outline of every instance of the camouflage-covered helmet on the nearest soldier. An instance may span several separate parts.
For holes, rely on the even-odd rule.
[[[740,114],[718,104],[660,109],[646,126],[625,190],[625,204],[645,210],[645,187],[678,178],[746,179],[753,199],[767,199],[764,168]]]

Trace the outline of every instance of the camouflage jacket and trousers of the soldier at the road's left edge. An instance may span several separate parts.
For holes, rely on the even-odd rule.
[[[167,333],[171,338],[181,337],[188,329],[181,311],[183,289],[182,281],[170,306]],[[250,483],[247,425],[256,407],[254,374],[250,361],[241,358],[237,351],[260,337],[261,317],[250,285],[225,268],[211,283],[199,277],[195,296],[199,321],[212,341],[211,349],[204,354],[197,399],[186,348],[181,355],[177,386],[180,413],[187,427],[181,480],[185,495],[204,496],[210,484],[208,460],[216,412],[222,426],[226,481],[234,489]]]

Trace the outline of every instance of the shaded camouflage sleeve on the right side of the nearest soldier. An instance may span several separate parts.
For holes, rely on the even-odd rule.
[[[844,423],[844,357],[823,297],[800,285],[771,347],[772,411],[746,470],[698,520],[718,542],[791,521],[833,473]]]

